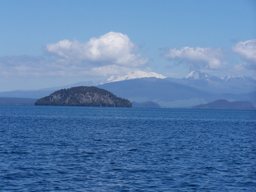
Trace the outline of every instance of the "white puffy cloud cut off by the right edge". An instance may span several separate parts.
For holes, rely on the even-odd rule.
[[[256,39],[240,41],[232,47],[232,51],[250,64],[256,64]]]

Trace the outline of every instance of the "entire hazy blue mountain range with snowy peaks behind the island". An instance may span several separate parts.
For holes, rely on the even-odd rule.
[[[245,76],[219,77],[192,71],[183,78],[165,77],[153,72],[134,71],[111,76],[104,81],[86,81],[39,90],[0,92],[0,97],[41,98],[64,88],[96,86],[131,102],[152,101],[161,107],[192,107],[219,99],[250,101],[256,106],[256,80]]]

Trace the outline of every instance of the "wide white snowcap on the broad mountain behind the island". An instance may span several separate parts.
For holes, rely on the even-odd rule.
[[[143,77],[156,77],[156,78],[166,78],[166,76],[163,76],[161,74],[157,74],[154,72],[144,72],[144,71],[134,71],[132,73],[128,73],[125,75],[113,75],[107,78],[104,81],[97,82],[100,85],[105,84],[105,83],[110,83],[110,82],[115,82],[115,81],[124,81],[124,80],[129,80],[129,79],[136,79],[136,78],[143,78]]]

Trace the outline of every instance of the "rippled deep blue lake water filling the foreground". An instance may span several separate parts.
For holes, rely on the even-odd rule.
[[[0,191],[255,190],[255,111],[0,106]]]

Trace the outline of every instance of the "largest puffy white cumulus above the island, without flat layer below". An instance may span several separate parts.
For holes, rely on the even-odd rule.
[[[93,37],[88,42],[62,40],[47,44],[45,51],[68,60],[81,60],[85,63],[106,63],[118,66],[142,67],[148,58],[133,54],[136,44],[130,41],[126,34],[109,32],[100,37]]]

